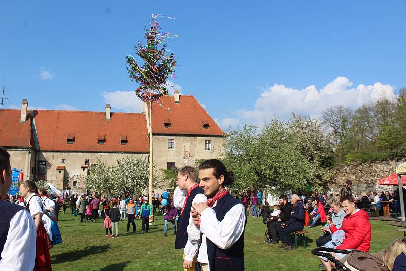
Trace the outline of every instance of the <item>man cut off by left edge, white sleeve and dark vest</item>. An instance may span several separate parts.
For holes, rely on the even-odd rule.
[[[11,184],[10,155],[0,148],[0,270],[32,270],[35,224],[26,208],[4,201]]]

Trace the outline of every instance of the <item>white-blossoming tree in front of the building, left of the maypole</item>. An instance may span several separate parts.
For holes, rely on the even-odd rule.
[[[123,189],[139,194],[148,186],[149,165],[146,158],[129,156],[117,159],[116,162],[117,164],[108,166],[99,159],[85,177],[85,186],[107,196],[117,195]],[[153,179],[157,180],[155,169]],[[156,186],[157,182],[153,184]]]

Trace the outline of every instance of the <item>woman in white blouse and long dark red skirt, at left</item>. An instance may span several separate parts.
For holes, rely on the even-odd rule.
[[[25,198],[25,207],[29,210],[37,228],[37,245],[34,270],[52,270],[49,249],[52,248],[48,233],[41,217],[44,215],[42,199],[36,194],[37,186],[32,181],[20,184],[21,195]]]

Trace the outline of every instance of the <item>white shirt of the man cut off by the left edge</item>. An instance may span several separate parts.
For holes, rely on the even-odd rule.
[[[17,212],[10,220],[10,228],[0,260],[0,270],[34,269],[36,242],[37,232],[34,220],[25,209]]]

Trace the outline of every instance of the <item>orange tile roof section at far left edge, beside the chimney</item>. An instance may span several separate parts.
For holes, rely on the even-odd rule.
[[[20,122],[21,110],[0,109],[0,146],[34,147],[31,140],[31,121]]]

